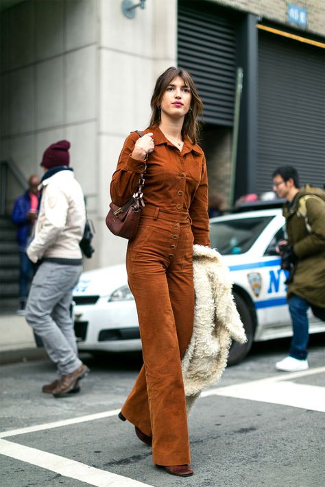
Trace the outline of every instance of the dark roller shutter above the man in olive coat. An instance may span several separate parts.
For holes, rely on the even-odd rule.
[[[260,32],[256,192],[270,189],[278,166],[302,184],[325,183],[325,51]]]

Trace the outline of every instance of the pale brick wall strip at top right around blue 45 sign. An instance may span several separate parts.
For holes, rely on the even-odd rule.
[[[191,1],[191,0],[189,0]],[[325,34],[325,1],[324,0],[210,0],[226,7],[237,8],[269,20],[293,26],[302,31],[308,30],[315,34]],[[298,27],[287,22],[289,3],[307,10],[307,27]]]

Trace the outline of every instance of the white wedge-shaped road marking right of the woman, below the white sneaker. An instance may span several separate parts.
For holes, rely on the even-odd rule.
[[[234,386],[204,390],[200,397],[214,395],[235,397],[325,412],[325,387],[297,384],[289,380],[324,372],[325,367],[318,367],[303,372],[275,375],[274,377],[267,377],[267,379],[234,384]]]

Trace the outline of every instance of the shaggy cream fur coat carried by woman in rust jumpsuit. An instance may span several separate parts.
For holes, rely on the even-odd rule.
[[[188,408],[220,379],[232,340],[245,343],[243,323],[232,297],[230,271],[215,249],[193,246],[194,328],[182,360]]]

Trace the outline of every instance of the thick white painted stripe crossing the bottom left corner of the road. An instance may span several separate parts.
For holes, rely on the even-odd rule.
[[[153,487],[137,480],[95,469],[93,466],[69,460],[35,448],[18,445],[7,440],[0,440],[0,453],[22,462],[40,466],[42,469],[60,473],[64,477],[80,480],[95,487]]]

